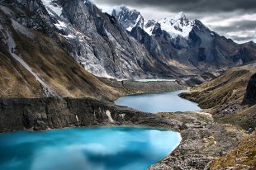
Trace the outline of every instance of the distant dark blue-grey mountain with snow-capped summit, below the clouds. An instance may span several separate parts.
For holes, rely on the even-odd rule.
[[[127,8],[119,11],[122,21],[126,21],[124,13],[130,12]],[[134,26],[130,35],[140,40],[155,59],[182,69],[183,74],[214,73],[256,59],[254,43],[238,45],[201,21],[189,21],[183,12],[162,21],[145,21],[144,26]]]

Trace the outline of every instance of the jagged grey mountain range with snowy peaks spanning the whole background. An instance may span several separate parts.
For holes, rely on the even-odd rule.
[[[189,21],[183,12],[162,21],[145,21],[136,10],[121,6],[102,12],[88,0],[2,0],[0,12],[2,45],[33,55],[27,50],[32,45],[15,48],[8,40],[16,44],[17,36],[35,40],[45,54],[56,54],[52,49],[61,50],[99,77],[218,74],[256,59],[254,42],[236,44],[199,20]],[[35,37],[44,37],[55,45],[49,46]],[[4,49],[1,52],[8,55]]]

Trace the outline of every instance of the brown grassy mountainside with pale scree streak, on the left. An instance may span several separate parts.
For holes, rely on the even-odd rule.
[[[0,8],[0,97],[116,97],[116,89],[88,73],[55,40],[41,33],[52,30],[46,30],[41,21],[50,16],[40,6],[40,2],[27,1],[22,7],[12,3]],[[55,31],[51,33],[58,37]]]

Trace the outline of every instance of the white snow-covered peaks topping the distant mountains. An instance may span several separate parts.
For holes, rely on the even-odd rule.
[[[189,21],[184,12],[179,12],[173,17],[166,17],[161,21],[145,21],[140,12],[124,5],[113,7],[105,12],[116,17],[127,31],[131,31],[135,26],[139,26],[149,35],[154,35],[154,30],[160,29],[168,32],[173,38],[178,37],[178,35],[186,38],[194,26],[193,21]]]

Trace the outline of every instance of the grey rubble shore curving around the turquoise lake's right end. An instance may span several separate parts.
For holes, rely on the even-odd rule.
[[[243,130],[233,125],[214,122],[203,112],[159,113],[167,120],[178,120],[183,125],[179,132],[183,137],[178,148],[149,169],[211,169],[210,164],[235,148],[244,137]]]

